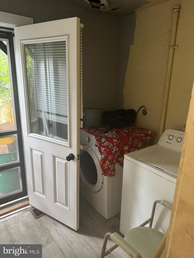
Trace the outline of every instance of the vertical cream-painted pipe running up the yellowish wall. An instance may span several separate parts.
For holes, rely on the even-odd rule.
[[[166,111],[167,111],[168,98],[169,98],[170,79],[171,79],[171,73],[172,73],[172,63],[173,63],[173,56],[174,56],[174,49],[175,49],[176,29],[177,29],[177,22],[179,18],[179,9],[180,9],[179,5],[173,6],[172,31],[171,31],[170,46],[169,46],[168,64],[167,64],[167,70],[166,70],[166,82],[165,82],[164,98],[163,98],[163,104],[162,104],[162,115],[161,115],[161,121],[160,121],[159,138],[164,132],[164,126],[165,126],[165,120],[166,120]]]

